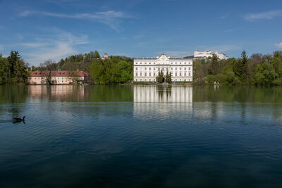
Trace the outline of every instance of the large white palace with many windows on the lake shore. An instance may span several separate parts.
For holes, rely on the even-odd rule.
[[[158,74],[163,71],[171,73],[172,82],[192,82],[193,58],[171,58],[161,54],[157,58],[134,59],[134,81],[156,82]]]

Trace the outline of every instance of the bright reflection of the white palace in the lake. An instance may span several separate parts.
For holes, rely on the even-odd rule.
[[[192,117],[192,87],[135,86],[135,118]]]

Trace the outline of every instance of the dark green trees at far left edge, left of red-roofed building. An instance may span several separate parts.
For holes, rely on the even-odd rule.
[[[7,58],[0,54],[0,84],[26,83],[27,75],[27,63],[18,51],[11,51]]]

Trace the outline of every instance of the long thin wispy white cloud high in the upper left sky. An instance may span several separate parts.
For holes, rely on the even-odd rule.
[[[123,18],[133,18],[131,15],[127,15],[121,11],[104,11],[97,13],[76,13],[76,14],[65,14],[65,13],[51,13],[51,12],[40,12],[40,11],[23,11],[19,14],[22,17],[29,15],[42,15],[56,18],[71,18],[71,19],[84,19],[94,20],[100,23],[109,25],[113,30],[118,31],[118,26]]]

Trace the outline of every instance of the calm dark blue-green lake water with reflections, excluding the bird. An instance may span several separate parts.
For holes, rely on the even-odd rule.
[[[282,187],[282,87],[0,86],[0,187]]]

